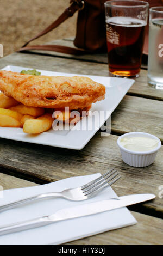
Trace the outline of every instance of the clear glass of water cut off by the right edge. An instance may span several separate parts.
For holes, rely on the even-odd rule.
[[[163,89],[163,7],[150,9],[148,84]]]

